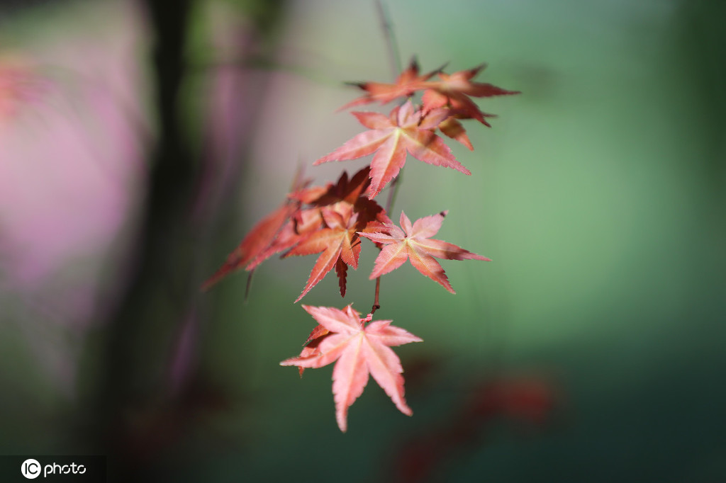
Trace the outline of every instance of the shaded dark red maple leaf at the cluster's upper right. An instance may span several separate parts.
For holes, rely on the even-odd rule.
[[[519,91],[507,91],[489,83],[472,82],[471,79],[486,67],[485,64],[473,67],[473,69],[460,70],[453,74],[439,72],[438,82],[428,83],[427,90],[423,93],[422,102],[425,110],[437,109],[439,107],[450,107],[457,112],[461,119],[473,118],[480,123],[489,125],[484,117],[492,117],[479,110],[478,106],[469,98],[491,97],[520,94]]]

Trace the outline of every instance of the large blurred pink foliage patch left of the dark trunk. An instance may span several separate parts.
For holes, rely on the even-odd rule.
[[[0,294],[66,389],[78,341],[102,320],[102,274],[120,268],[108,255],[128,248],[119,237],[150,136],[139,12],[119,2],[84,15],[104,28],[66,25],[52,41],[0,51]]]

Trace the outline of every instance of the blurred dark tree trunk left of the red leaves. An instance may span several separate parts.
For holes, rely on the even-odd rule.
[[[168,402],[158,392],[174,327],[189,310],[192,286],[185,212],[196,167],[179,125],[179,87],[189,0],[146,0],[152,47],[158,141],[151,170],[136,260],[118,313],[107,327],[102,363],[98,430],[109,456],[110,481],[153,481],[150,471],[165,431],[153,421]],[[173,5],[172,5],[173,3]],[[154,407],[156,406],[156,407]],[[145,433],[145,434],[144,434]]]

